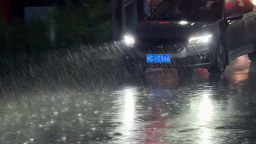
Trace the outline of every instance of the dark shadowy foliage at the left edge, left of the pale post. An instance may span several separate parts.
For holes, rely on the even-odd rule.
[[[1,18],[3,19],[3,18]],[[14,21],[12,25],[0,20],[0,56],[15,59],[24,54],[40,54],[49,48],[46,23]]]

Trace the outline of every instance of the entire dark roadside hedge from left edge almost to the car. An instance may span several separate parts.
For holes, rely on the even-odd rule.
[[[46,22],[0,18],[0,59],[42,54],[46,50],[110,40],[110,4],[102,0],[66,0]],[[55,33],[55,43],[51,35]]]

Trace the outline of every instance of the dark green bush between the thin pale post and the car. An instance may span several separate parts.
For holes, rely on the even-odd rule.
[[[74,5],[66,0],[65,6],[52,13],[55,21],[57,44],[95,43],[110,37],[110,5],[102,0],[83,0]]]

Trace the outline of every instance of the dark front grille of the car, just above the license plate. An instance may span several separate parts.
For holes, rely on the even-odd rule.
[[[139,47],[150,54],[179,53],[187,45],[187,41],[180,38],[144,38],[140,39]]]

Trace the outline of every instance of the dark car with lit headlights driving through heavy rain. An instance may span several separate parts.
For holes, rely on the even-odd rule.
[[[250,0],[163,0],[122,42],[130,72],[204,68],[221,74],[229,59],[248,54],[256,61],[255,6]]]

